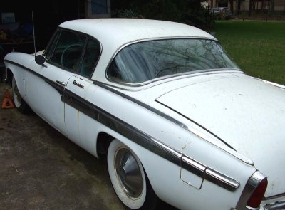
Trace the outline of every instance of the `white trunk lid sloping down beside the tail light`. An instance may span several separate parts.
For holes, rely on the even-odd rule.
[[[285,90],[246,75],[186,85],[157,102],[194,120],[268,176],[265,196],[285,192]]]

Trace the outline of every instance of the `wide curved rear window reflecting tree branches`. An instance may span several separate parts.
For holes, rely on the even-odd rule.
[[[143,83],[180,73],[239,69],[217,41],[169,39],[133,43],[123,48],[107,70],[120,83]]]

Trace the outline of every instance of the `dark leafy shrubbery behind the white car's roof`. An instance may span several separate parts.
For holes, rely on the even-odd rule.
[[[140,14],[145,19],[176,21],[199,28],[209,28],[213,21],[209,11],[201,6],[201,0],[122,0],[114,3],[111,2],[114,16]]]

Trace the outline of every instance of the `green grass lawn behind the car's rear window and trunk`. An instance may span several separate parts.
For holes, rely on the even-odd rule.
[[[285,22],[216,21],[213,31],[245,73],[285,85]]]

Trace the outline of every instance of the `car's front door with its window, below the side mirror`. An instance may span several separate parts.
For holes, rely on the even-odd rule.
[[[49,124],[66,135],[63,91],[76,73],[86,37],[73,31],[58,30],[43,53],[46,62],[31,63],[26,93],[29,105]]]

